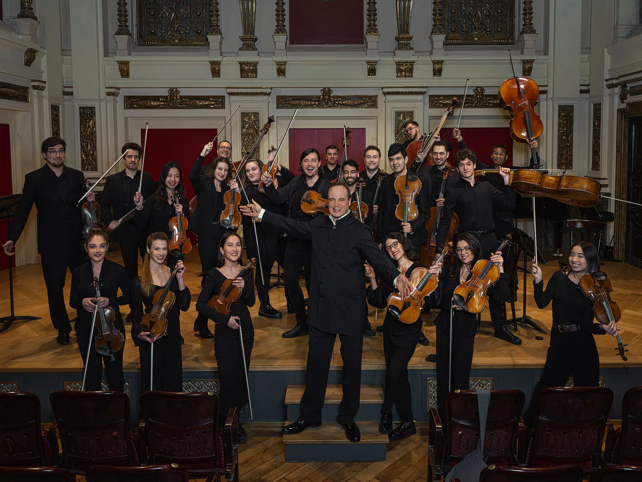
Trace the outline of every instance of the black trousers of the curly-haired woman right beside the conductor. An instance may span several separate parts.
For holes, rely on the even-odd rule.
[[[381,412],[397,407],[401,422],[412,422],[412,393],[408,380],[408,362],[417,348],[416,337],[395,337],[383,328],[383,356],[386,359],[386,393]]]

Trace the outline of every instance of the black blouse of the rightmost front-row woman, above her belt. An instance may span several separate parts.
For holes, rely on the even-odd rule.
[[[553,301],[553,326],[580,325],[580,330],[594,335],[605,331],[600,323],[593,323],[593,301],[586,297],[582,287],[569,280],[568,274],[555,271],[544,290],[544,280],[534,284],[535,303],[543,309]],[[558,330],[553,330],[557,332]]]

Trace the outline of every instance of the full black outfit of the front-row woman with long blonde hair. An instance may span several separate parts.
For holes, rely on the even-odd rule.
[[[146,327],[141,328],[141,321],[145,313],[153,308],[154,294],[164,287],[154,285],[152,296],[147,296],[141,289],[141,278],[136,276],[132,280],[132,339],[138,347],[141,359],[141,392],[150,389],[152,344],[141,340],[138,335],[146,332]],[[171,281],[169,290],[173,291],[176,301],[167,314],[167,334],[154,342],[154,386],[155,390],[183,391],[183,358],[180,351],[180,323],[179,311],[187,311],[191,301],[191,294],[187,286],[178,290],[178,281]],[[143,310],[144,304],[144,310]]]

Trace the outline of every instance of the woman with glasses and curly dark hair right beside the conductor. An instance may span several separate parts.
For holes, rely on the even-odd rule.
[[[397,263],[399,272],[410,278],[417,267],[421,267],[419,254],[415,251],[410,240],[402,233],[389,233],[381,242],[381,250],[392,261]],[[429,269],[434,276],[439,276],[441,263]],[[386,308],[388,296],[394,290],[380,276],[375,276],[374,270],[368,263],[365,273],[370,278],[370,286],[366,292],[368,303],[376,308]],[[408,380],[408,362],[415,353],[419,334],[421,333],[421,317],[414,323],[402,323],[390,311],[383,319],[383,356],[386,359],[386,392],[381,407],[379,432],[388,434],[390,440],[401,440],[417,433],[412,416],[412,394]],[[392,406],[397,407],[401,423],[392,428]]]

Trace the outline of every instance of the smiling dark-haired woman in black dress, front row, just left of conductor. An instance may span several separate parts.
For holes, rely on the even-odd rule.
[[[254,325],[250,310],[256,302],[254,297],[254,273],[248,269],[243,276],[239,272],[243,269],[241,255],[243,247],[241,238],[234,231],[229,231],[221,237],[218,248],[218,261],[216,267],[207,272],[203,290],[196,301],[196,310],[203,316],[216,323],[214,326],[214,353],[216,366],[220,379],[220,423],[225,423],[230,407],[243,407],[248,402],[247,387],[245,386],[245,373],[243,373],[243,355],[241,355],[241,341],[239,339],[239,326],[243,334],[243,349],[245,350],[245,366],[250,369],[250,357],[254,346]],[[227,280],[234,280],[232,284],[241,289],[241,297],[234,301],[230,307],[230,314],[223,315],[213,310],[207,302],[218,296]],[[239,424],[239,442],[247,440],[247,433]]]

